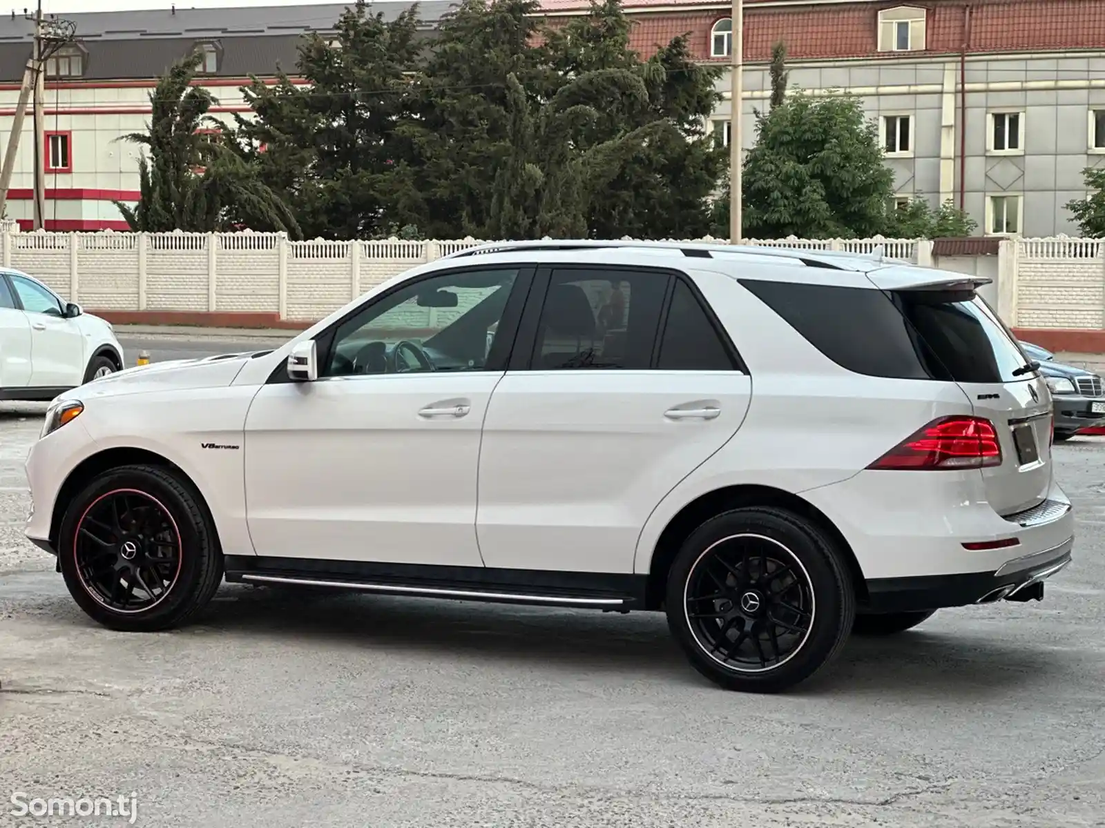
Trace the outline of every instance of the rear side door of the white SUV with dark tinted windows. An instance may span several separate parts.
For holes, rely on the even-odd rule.
[[[484,424],[480,550],[631,573],[649,514],[740,426],[750,379],[686,275],[565,268],[543,291]]]

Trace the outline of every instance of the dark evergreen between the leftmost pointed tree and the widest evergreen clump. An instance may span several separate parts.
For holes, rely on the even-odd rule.
[[[409,223],[406,141],[411,82],[421,49],[418,9],[394,20],[365,0],[338,19],[330,42],[314,34],[299,47],[298,74],[243,89],[255,117],[238,119],[239,155],[274,191],[296,204],[308,236],[378,237]]]

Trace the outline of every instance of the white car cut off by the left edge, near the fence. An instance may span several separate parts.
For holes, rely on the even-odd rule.
[[[25,273],[0,270],[0,400],[53,400],[120,368],[108,322]]]

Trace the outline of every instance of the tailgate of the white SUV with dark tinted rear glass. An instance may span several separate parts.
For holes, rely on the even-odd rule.
[[[918,333],[929,370],[958,383],[976,416],[998,431],[1002,464],[980,471],[994,511],[1011,514],[1046,499],[1051,394],[997,312],[962,284],[906,287],[890,295]]]

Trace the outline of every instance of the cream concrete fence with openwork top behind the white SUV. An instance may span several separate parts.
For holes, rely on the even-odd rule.
[[[716,240],[698,240],[716,241]],[[20,233],[0,225],[3,265],[117,322],[302,328],[415,265],[481,244],[290,241],[281,233]],[[986,244],[976,244],[982,243]],[[1105,351],[1105,241],[1086,238],[749,240],[874,254],[988,276],[983,293],[1013,327],[1099,338]],[[1041,339],[1044,335],[1038,336]],[[1044,337],[1046,338],[1046,337]],[[1096,341],[1096,340],[1095,340]],[[1064,350],[1086,350],[1071,348]]]

